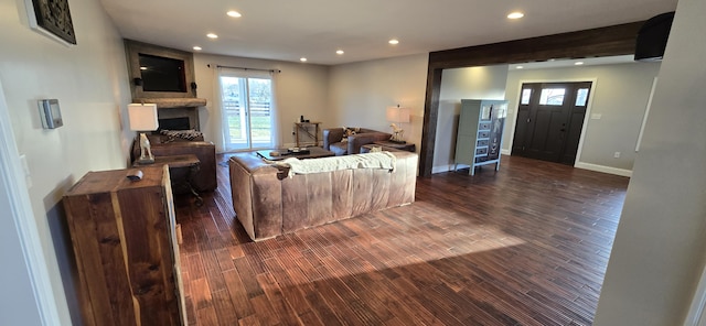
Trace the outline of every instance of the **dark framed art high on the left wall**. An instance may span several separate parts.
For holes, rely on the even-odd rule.
[[[76,44],[68,0],[25,0],[25,3],[33,29],[49,32],[68,44]]]

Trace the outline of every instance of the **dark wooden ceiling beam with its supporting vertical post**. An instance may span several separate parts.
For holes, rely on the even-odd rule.
[[[429,53],[419,174],[434,165],[439,94],[443,69],[633,54],[644,21]]]

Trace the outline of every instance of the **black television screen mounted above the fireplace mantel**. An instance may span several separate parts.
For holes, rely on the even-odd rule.
[[[186,91],[184,61],[139,54],[143,91]]]

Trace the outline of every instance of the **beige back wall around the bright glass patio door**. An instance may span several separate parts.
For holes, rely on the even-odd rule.
[[[295,143],[293,122],[299,121],[300,116],[311,121],[321,121],[322,126],[332,120],[331,109],[328,106],[329,68],[327,66],[195,54],[194,70],[199,85],[196,93],[199,97],[206,99],[206,107],[200,108],[199,112],[201,130],[206,140],[216,144],[218,152],[223,149],[223,135],[218,134],[222,120],[216,100],[218,97],[216,65],[281,70],[275,74],[274,78],[276,78],[278,144],[282,146],[291,146]]]

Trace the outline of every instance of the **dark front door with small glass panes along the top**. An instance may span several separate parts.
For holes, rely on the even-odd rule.
[[[512,154],[574,165],[591,83],[522,85]]]

